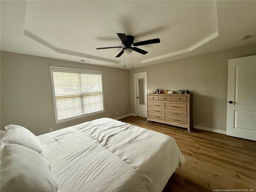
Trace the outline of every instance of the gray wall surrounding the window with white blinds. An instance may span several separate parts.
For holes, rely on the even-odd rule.
[[[50,67],[102,70],[105,112],[55,124]],[[1,51],[1,130],[18,124],[36,135],[101,117],[130,113],[129,71]],[[118,114],[116,114],[118,111]]]

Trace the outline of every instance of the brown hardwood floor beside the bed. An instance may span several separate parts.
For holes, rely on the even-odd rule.
[[[175,138],[186,162],[163,192],[256,192],[256,142],[198,129],[188,133],[185,128],[146,123],[138,116],[120,120]]]

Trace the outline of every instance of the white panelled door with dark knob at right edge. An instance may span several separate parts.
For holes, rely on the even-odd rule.
[[[256,56],[228,60],[226,134],[256,140]]]

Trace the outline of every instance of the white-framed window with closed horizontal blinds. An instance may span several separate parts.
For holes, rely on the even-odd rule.
[[[50,66],[56,123],[104,112],[102,72]]]

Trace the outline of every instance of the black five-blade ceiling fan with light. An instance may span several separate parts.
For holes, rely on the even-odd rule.
[[[123,47],[122,46],[102,47],[102,48],[96,48],[96,49],[123,48],[122,51],[116,57],[120,57],[123,53],[130,54],[132,51],[136,51],[144,55],[144,54],[147,54],[148,52],[140,48],[137,48],[136,46],[160,43],[159,38],[134,43],[134,36],[126,35],[124,33],[117,33],[117,35],[120,38],[122,44],[124,45]],[[132,46],[135,46],[135,47],[132,47]]]

